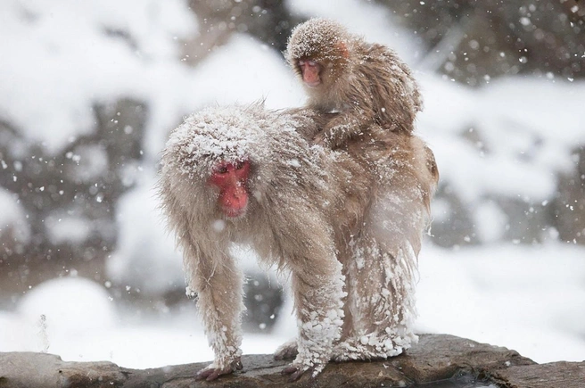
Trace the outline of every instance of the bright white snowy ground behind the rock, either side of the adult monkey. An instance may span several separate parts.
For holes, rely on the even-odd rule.
[[[420,258],[417,331],[506,346],[537,362],[581,361],[584,257],[585,249],[561,244],[458,252],[427,245]],[[0,313],[0,351],[48,351],[66,360],[140,368],[212,358],[193,304],[150,314],[128,319],[99,285],[55,280],[29,293],[15,312]],[[291,339],[293,318],[284,319],[273,334],[245,334],[244,353],[269,353]]]

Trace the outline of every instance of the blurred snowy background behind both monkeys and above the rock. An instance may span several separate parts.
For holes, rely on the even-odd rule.
[[[499,4],[504,3],[504,4]],[[585,359],[585,5],[0,2],[0,351],[157,367],[211,359],[153,196],[169,130],[209,104],[299,106],[286,37],[325,16],[390,45],[424,92],[441,185],[419,332]],[[243,351],[295,334],[250,277]]]

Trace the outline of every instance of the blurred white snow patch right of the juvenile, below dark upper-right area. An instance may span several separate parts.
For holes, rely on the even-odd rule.
[[[468,204],[485,194],[550,198],[556,172],[573,166],[571,151],[585,142],[583,84],[505,78],[475,91],[430,74],[419,81],[424,111],[418,128],[433,147],[441,178]],[[472,126],[479,144],[454,137]]]

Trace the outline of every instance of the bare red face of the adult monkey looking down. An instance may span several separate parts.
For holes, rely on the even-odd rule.
[[[248,205],[250,161],[220,161],[210,177],[210,184],[219,188],[218,206],[227,217],[240,217]]]

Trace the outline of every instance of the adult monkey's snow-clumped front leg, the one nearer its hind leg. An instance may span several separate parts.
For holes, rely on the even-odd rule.
[[[302,260],[293,267],[293,295],[299,323],[298,355],[283,370],[296,380],[310,370],[317,376],[331,359],[343,324],[342,265],[332,255],[326,260]],[[296,270],[295,270],[296,269]]]

